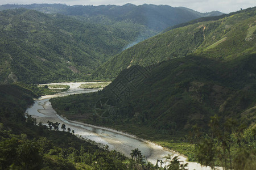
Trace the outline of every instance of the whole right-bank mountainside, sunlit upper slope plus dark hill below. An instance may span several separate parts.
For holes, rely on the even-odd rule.
[[[140,42],[107,62],[99,75],[117,77],[104,90],[51,99],[52,106],[65,117],[126,131],[195,160],[183,142],[198,140],[189,135],[198,126],[206,135],[214,114],[221,123],[232,118],[255,130],[255,16],[250,8]]]

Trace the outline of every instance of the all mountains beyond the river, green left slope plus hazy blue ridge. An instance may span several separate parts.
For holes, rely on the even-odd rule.
[[[212,15],[131,4],[2,5],[0,10],[1,83],[88,79],[123,49],[171,25]]]

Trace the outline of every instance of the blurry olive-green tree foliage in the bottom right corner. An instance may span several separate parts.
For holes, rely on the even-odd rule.
[[[255,141],[255,133],[250,133],[251,137],[246,138],[245,125],[238,126],[238,122],[232,118],[223,123],[217,115],[211,117],[209,126],[209,135],[195,147],[195,158],[200,164],[213,168],[217,162],[224,169],[255,167],[255,143],[250,143],[251,139]],[[253,128],[247,131],[253,132]]]

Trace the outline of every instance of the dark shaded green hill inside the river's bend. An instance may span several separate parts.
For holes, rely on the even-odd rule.
[[[190,130],[195,124],[206,128],[214,114],[237,118],[250,125],[255,123],[255,61],[255,54],[228,61],[188,56],[151,69],[131,66],[94,96],[52,99],[52,104],[65,116],[84,115],[87,119],[80,121],[90,124],[115,126],[116,121],[117,127],[123,125],[122,130],[130,130],[128,124],[152,128],[154,135],[134,129],[136,134],[152,139],[161,131],[177,134],[177,131]],[[94,104],[101,98],[113,100],[117,113],[108,118],[97,117],[94,122],[88,117],[93,117]]]

